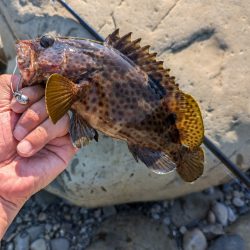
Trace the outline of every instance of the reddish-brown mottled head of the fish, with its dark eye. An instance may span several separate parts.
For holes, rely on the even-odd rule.
[[[28,86],[48,79],[54,73],[72,76],[96,67],[96,50],[92,41],[44,35],[34,40],[16,43],[17,63]]]

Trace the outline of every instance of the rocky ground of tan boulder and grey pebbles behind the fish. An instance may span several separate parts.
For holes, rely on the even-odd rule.
[[[249,168],[249,1],[68,2],[102,35],[120,27],[122,34],[133,31],[134,38],[152,44],[181,87],[199,100],[206,134],[238,166]],[[1,0],[0,21],[0,73],[7,61],[7,72],[13,70],[12,36],[86,35],[49,0]],[[75,158],[48,190],[82,206],[167,200],[85,209],[43,191],[20,211],[1,249],[250,249],[250,192],[237,181],[170,200],[229,177],[211,153],[206,151],[203,177],[190,185],[173,174],[161,178],[131,166],[126,150],[104,138]]]

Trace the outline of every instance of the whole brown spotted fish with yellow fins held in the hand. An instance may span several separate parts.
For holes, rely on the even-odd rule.
[[[204,170],[201,110],[170,69],[119,30],[104,42],[44,35],[16,43],[24,86],[45,83],[53,123],[70,114],[73,144],[98,141],[98,133],[125,141],[138,162],[157,174],[176,170],[186,182]]]

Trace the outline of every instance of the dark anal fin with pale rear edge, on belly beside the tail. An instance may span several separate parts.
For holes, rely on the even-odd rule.
[[[128,148],[136,161],[140,159],[149,169],[157,174],[169,173],[176,167],[171,158],[163,152],[129,144]]]

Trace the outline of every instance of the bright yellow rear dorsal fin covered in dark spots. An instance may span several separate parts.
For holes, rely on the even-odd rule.
[[[168,108],[176,114],[176,127],[181,143],[189,148],[200,146],[204,138],[204,126],[200,108],[191,95],[181,91],[167,98]]]

